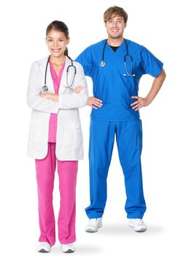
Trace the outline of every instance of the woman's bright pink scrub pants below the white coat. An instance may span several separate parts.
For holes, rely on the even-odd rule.
[[[53,186],[56,162],[60,190],[58,214],[58,239],[61,244],[73,243],[75,236],[76,181],[78,161],[59,161],[55,157],[55,143],[48,143],[45,159],[36,159],[36,181],[38,187],[39,241],[55,244],[55,216],[53,211]]]

